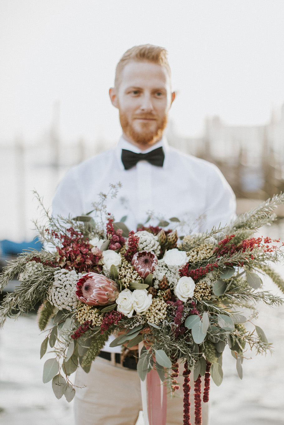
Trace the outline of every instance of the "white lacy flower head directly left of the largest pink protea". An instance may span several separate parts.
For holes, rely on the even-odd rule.
[[[75,270],[60,269],[54,273],[54,283],[47,291],[47,299],[62,310],[73,310],[78,304],[78,298],[75,294],[76,283],[82,277],[81,273]]]

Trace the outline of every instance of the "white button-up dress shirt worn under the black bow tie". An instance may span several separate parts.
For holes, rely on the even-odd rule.
[[[163,167],[140,161],[124,170],[121,150],[147,153],[162,146]],[[98,193],[108,193],[109,184],[120,182],[117,198],[107,199],[107,210],[136,230],[145,223],[149,211],[159,219],[178,217],[192,231],[203,231],[229,223],[235,215],[235,195],[218,168],[207,161],[179,152],[163,138],[147,150],[140,150],[122,137],[114,149],[100,153],[73,167],[60,182],[52,203],[53,214],[86,214],[98,201]],[[203,218],[198,221],[199,218]],[[148,224],[157,225],[152,219]],[[185,234],[179,232],[179,234]]]

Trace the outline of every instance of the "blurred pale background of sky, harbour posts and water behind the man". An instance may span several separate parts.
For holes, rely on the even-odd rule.
[[[1,0],[2,260],[32,246],[32,220],[40,215],[32,191],[49,207],[70,167],[118,142],[118,113],[108,90],[118,60],[133,45],[149,42],[168,49],[177,93],[166,130],[169,143],[217,164],[237,196],[238,212],[283,191],[283,22],[282,0]],[[279,208],[271,235],[283,235],[283,217]],[[277,394],[283,395],[284,387],[277,376],[282,373],[283,381],[278,335],[281,329],[283,335],[284,309],[273,312],[272,317],[264,309],[262,320],[270,323],[275,356],[270,363],[258,360],[257,370],[252,362],[246,385],[234,380],[227,390],[224,385],[223,404],[216,393],[213,425],[283,424],[283,397]],[[21,320],[0,330],[1,423],[72,425],[70,405],[57,402],[48,385],[40,390],[43,362],[35,366],[40,343],[34,317]],[[23,345],[25,358],[32,359],[26,366],[17,355]],[[264,375],[267,370],[265,384],[260,369]],[[29,393],[33,379],[37,391]],[[255,392],[249,382],[255,382]],[[266,385],[270,398],[263,397]],[[228,388],[235,388],[230,394],[235,403],[227,403]]]

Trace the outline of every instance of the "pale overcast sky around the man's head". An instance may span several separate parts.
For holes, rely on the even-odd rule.
[[[169,51],[171,118],[263,124],[284,102],[283,0],[1,0],[0,142],[34,143],[60,101],[64,141],[120,136],[108,90],[132,45]]]

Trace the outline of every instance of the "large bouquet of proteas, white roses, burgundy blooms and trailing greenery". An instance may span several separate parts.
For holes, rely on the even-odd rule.
[[[88,372],[111,334],[119,335],[112,347],[143,343],[137,364],[142,381],[155,370],[173,393],[184,364],[184,424],[190,423],[193,374],[195,424],[200,424],[201,377],[207,402],[210,377],[216,385],[222,381],[225,347],[240,377],[247,347],[257,352],[271,348],[259,326],[248,331],[246,324],[257,316],[257,301],[282,303],[261,289],[261,275],[284,288],[269,265],[283,259],[282,245],[253,233],[274,220],[273,209],[284,195],[229,227],[180,238],[175,229],[164,230],[179,224],[174,217],[129,232],[123,221],[106,215],[106,195],[100,196],[101,203],[84,216],[55,218],[45,211],[48,222],[37,228],[48,249],[24,252],[0,276],[2,290],[15,275],[19,279],[0,307],[0,326],[7,316],[18,317],[41,304],[39,327],[49,329],[40,357],[48,346],[54,352],[44,364],[43,382],[52,381],[56,397],[64,394],[67,401],[75,395],[69,375],[79,364]]]

